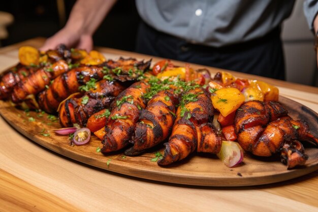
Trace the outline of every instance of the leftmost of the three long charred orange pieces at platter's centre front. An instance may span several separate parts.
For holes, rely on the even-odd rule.
[[[149,84],[146,82],[136,82],[116,98],[116,104],[113,104],[106,121],[102,153],[115,152],[129,144],[139,119],[140,109],[146,107],[142,96],[148,87]]]

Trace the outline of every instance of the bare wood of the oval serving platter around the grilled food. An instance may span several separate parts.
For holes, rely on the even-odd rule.
[[[311,133],[318,136],[318,114],[293,100],[280,97],[294,119],[305,119]],[[97,151],[101,141],[92,136],[88,144],[71,146],[68,136],[56,135],[53,130],[60,128],[54,117],[41,112],[23,111],[0,101],[0,114],[17,131],[34,142],[54,152],[76,161],[125,175],[163,181],[175,184],[196,186],[252,186],[276,183],[308,174],[318,169],[318,148],[304,142],[309,156],[306,166],[287,170],[279,157],[258,158],[245,154],[244,163],[228,168],[216,156],[193,154],[188,159],[168,167],[160,167],[151,159],[155,152],[163,153],[163,145],[136,157],[125,157],[123,151],[103,155]]]

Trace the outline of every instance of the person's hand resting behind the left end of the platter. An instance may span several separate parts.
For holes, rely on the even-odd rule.
[[[93,48],[93,40],[91,35],[80,35],[76,31],[62,28],[55,35],[48,38],[44,45],[40,48],[41,51],[55,49],[59,44],[65,44],[67,47],[84,49],[90,51]]]

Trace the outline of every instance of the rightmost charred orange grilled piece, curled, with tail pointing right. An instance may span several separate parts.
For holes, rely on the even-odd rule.
[[[287,141],[317,139],[309,134],[302,120],[287,116],[278,102],[249,101],[240,106],[235,117],[235,132],[242,148],[257,156],[278,153]]]

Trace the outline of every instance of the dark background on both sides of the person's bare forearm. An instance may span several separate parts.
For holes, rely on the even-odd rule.
[[[76,1],[63,2],[68,19]],[[9,37],[1,41],[2,46],[35,37],[48,38],[65,24],[59,20],[57,1],[54,0],[2,1],[0,11],[9,12],[14,16],[14,22],[7,26]],[[94,45],[134,51],[139,20],[135,1],[118,0],[94,34]]]

